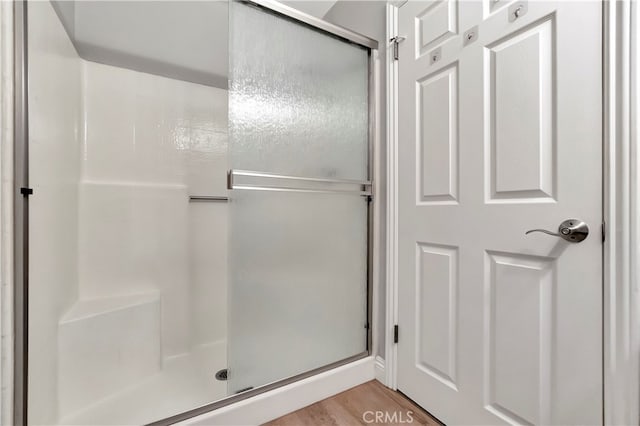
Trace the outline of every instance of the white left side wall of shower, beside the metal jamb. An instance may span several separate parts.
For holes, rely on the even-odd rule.
[[[78,292],[81,60],[49,2],[29,4],[30,422],[57,416],[58,319]]]

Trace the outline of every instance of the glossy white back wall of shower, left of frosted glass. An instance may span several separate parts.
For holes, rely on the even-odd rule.
[[[226,194],[226,91],[84,61],[83,99],[81,297],[160,290],[165,356],[224,339],[226,205],[188,196]]]

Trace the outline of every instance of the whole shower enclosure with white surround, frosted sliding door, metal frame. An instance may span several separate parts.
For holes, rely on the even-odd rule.
[[[16,7],[16,424],[169,424],[368,355],[375,41],[265,0]]]

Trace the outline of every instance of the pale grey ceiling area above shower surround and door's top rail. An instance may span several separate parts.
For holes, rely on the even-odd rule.
[[[227,87],[227,1],[52,3],[84,59]],[[283,3],[322,18],[336,1]]]

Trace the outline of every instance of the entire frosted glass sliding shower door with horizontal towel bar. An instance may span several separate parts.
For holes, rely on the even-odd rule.
[[[230,3],[229,392],[367,347],[369,50]]]

